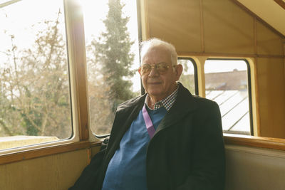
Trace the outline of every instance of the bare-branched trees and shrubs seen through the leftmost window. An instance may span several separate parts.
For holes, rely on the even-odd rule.
[[[11,35],[6,72],[1,74],[2,128],[6,136],[22,134],[67,138],[71,134],[66,43],[55,21],[38,23],[33,47],[18,50]],[[5,128],[6,126],[6,128]],[[2,132],[3,135],[3,132]]]

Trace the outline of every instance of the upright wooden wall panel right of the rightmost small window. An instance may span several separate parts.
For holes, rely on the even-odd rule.
[[[285,138],[284,60],[258,58],[261,137]]]

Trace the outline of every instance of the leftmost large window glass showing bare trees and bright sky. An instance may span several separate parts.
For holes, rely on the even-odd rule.
[[[0,149],[71,137],[63,1],[0,4]]]

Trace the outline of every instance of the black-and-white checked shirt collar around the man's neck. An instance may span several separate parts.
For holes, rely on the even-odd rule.
[[[165,97],[165,99],[160,100],[159,102],[156,102],[153,110],[158,110],[160,109],[160,107],[165,107],[165,110],[167,110],[168,112],[176,100],[178,88],[179,88],[179,85],[177,85],[176,90],[174,90],[173,93],[171,93],[171,95]],[[150,100],[150,96],[147,94],[147,96],[145,97],[145,105],[147,106],[148,109],[152,110],[150,107],[148,107],[148,104],[147,104],[149,100]]]

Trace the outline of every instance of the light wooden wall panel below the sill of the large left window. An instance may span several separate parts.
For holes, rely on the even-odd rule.
[[[65,190],[88,164],[88,149],[0,165],[2,190]]]

